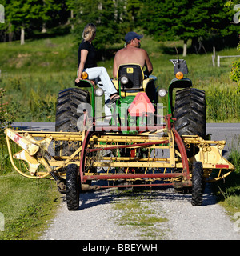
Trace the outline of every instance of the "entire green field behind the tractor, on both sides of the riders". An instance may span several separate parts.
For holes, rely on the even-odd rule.
[[[78,45],[74,37],[45,38],[0,44],[0,84],[6,91],[8,111],[14,121],[51,121],[55,119],[55,103],[58,91],[74,86],[78,65]],[[112,52],[122,43],[108,46]],[[178,49],[182,42],[176,42]],[[173,74],[170,58],[177,58],[173,42],[154,42],[150,37],[142,39],[154,65],[158,86],[168,88]],[[222,50],[220,55],[238,54],[237,49]],[[182,58],[182,56],[180,56]],[[188,78],[194,87],[206,90],[207,122],[240,122],[239,95],[237,85],[230,81],[230,64],[233,58],[223,58],[221,68],[212,66],[211,53],[188,54]],[[112,78],[113,58],[98,62],[105,66]],[[166,100],[164,100],[166,105]],[[18,110],[18,111],[15,111]]]

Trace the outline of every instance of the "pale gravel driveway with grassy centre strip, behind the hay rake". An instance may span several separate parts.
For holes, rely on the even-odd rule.
[[[133,200],[138,202],[138,209],[127,211],[127,204]],[[109,189],[81,194],[80,209],[70,212],[63,197],[58,214],[42,239],[240,239],[234,222],[207,188],[202,206],[191,206],[190,200],[190,194],[177,194],[174,189],[131,194]],[[123,204],[122,209],[119,204]],[[156,221],[144,225],[139,221],[142,218]]]

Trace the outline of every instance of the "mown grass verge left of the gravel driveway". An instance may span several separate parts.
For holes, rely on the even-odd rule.
[[[11,172],[0,176],[0,240],[36,240],[53,218],[59,197],[52,181],[32,180]]]

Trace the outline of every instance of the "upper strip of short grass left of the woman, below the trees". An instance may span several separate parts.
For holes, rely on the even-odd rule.
[[[28,40],[25,45],[19,42],[2,42],[0,66],[3,74],[46,74],[62,73],[77,68],[74,56],[74,37]],[[77,52],[77,50],[76,50]]]

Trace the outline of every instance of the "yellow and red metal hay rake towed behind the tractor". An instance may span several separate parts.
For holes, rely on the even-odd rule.
[[[222,157],[225,141],[204,140],[197,135],[181,137],[170,119],[168,115],[165,125],[149,126],[138,134],[122,131],[142,127],[92,126],[86,133],[6,129],[6,142],[10,161],[19,174],[26,178],[54,178],[63,193],[69,182],[76,182],[77,194],[108,187],[174,186],[185,190],[218,181],[234,170]],[[19,152],[12,152],[10,140],[18,144]],[[54,147],[62,143],[74,149],[73,154],[55,156]],[[196,151],[192,157],[187,155],[190,148]],[[199,166],[201,175],[193,184],[194,169]],[[68,168],[71,173],[76,171],[70,181],[66,177]],[[100,180],[107,182],[96,182]],[[70,203],[69,208],[76,210],[78,206]]]

